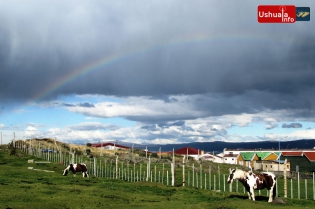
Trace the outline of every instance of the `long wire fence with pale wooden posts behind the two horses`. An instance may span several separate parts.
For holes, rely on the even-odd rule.
[[[42,149],[26,149],[20,147],[30,155],[42,158],[50,162],[57,162],[64,166],[70,163],[85,163],[88,166],[89,174],[99,178],[121,179],[128,182],[157,182],[164,185],[186,186],[199,189],[209,189],[220,192],[246,193],[245,188],[239,181],[227,184],[228,173],[220,173],[220,165],[217,169],[212,166],[205,167],[201,163],[186,161],[178,164],[174,177],[171,176],[172,163],[151,163],[150,157],[146,163],[133,163],[119,160],[118,156],[108,158],[88,158],[84,155],[75,155],[69,152],[51,152]],[[152,164],[152,165],[151,165]],[[305,175],[303,175],[305,176]],[[298,199],[315,200],[315,177],[314,172],[309,174],[311,178],[301,178],[296,173],[295,178],[285,179],[278,177],[277,196]],[[172,183],[172,178],[176,185]],[[268,195],[268,191],[258,190],[259,195]]]

